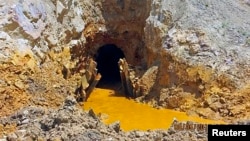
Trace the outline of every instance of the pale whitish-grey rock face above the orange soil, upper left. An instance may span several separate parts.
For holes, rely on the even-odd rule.
[[[63,46],[81,37],[88,22],[97,23],[92,3],[73,0],[2,1],[1,58],[10,57],[14,50],[32,51],[41,61],[49,50],[62,50]]]

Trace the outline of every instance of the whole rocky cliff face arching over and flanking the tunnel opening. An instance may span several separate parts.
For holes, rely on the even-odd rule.
[[[249,13],[248,0],[1,0],[0,62],[60,73],[114,44],[143,70],[138,100],[248,118]]]

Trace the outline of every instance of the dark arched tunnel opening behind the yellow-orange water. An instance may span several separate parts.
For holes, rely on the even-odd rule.
[[[121,84],[118,61],[123,51],[114,44],[100,47],[96,54],[97,70],[102,75],[97,87],[114,87]]]

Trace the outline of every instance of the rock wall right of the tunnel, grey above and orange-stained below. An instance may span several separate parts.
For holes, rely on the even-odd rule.
[[[220,99],[227,94],[239,98],[248,91],[247,1],[155,0],[151,7],[145,26],[147,63],[158,64],[159,71],[156,87],[142,100],[155,99],[153,105],[183,111],[201,107],[194,111],[209,118],[225,116],[222,111],[237,115],[228,108],[237,104]],[[211,107],[204,105],[204,99],[215,95]],[[245,98],[243,107],[248,105]],[[249,115],[248,108],[241,112]]]

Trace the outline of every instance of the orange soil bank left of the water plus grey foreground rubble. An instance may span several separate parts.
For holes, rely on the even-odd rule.
[[[62,54],[56,58],[67,56],[65,52]],[[63,66],[50,59],[39,68],[28,65],[32,59],[27,56],[19,57],[18,61],[13,59],[1,64],[0,133],[3,140],[207,140],[206,124],[204,130],[190,130],[177,128],[180,123],[173,121],[168,130],[128,132],[120,129],[119,122],[104,125],[93,111],[83,111],[81,104],[84,103],[76,101],[79,74],[65,79]],[[236,123],[233,116],[230,119]],[[248,121],[238,123],[248,124]]]

